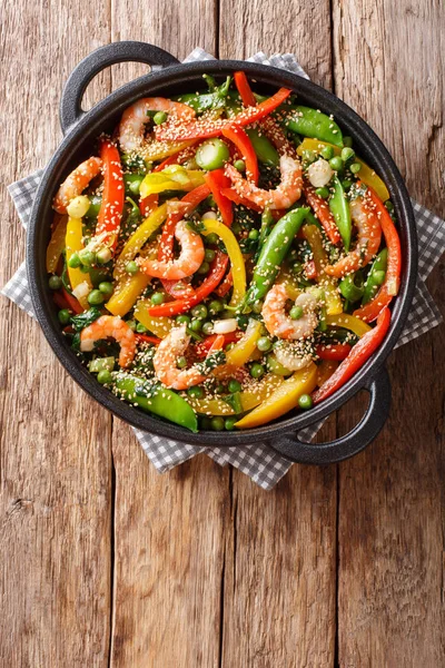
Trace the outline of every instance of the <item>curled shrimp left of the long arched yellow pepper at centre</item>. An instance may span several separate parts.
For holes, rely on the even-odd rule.
[[[179,257],[172,261],[142,259],[138,264],[148,276],[167,281],[180,281],[191,276],[204,261],[205,248],[199,234],[191,232],[185,220],[180,220],[175,229],[175,237],[181,246]]]

